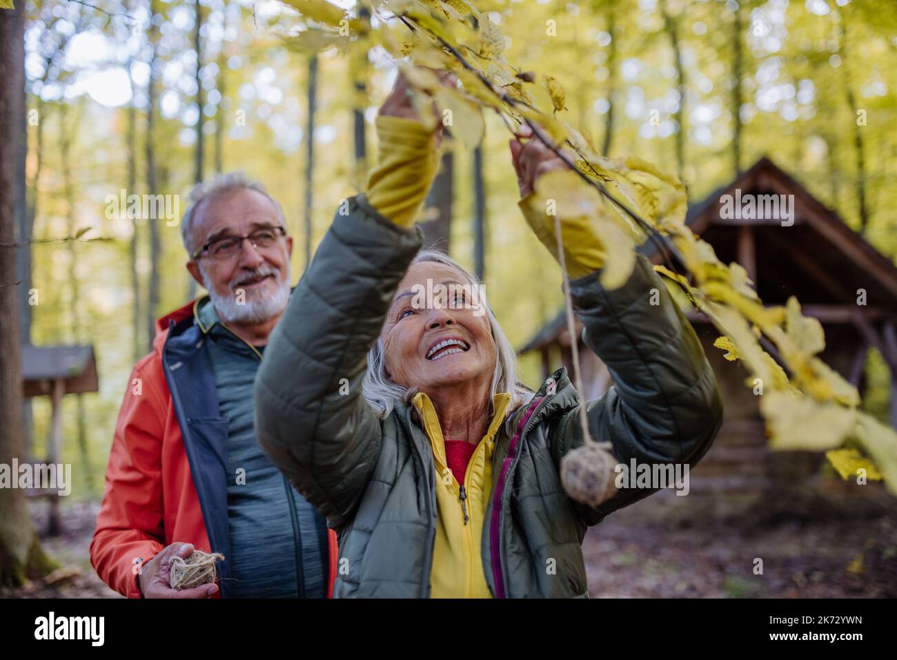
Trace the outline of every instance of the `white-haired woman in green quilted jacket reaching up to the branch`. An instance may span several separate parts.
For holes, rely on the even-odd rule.
[[[399,76],[368,192],[337,211],[265,352],[259,442],[336,530],[337,597],[587,596],[588,526],[657,488],[594,507],[565,494],[561,460],[584,442],[576,391],[563,368],[518,387],[492,310],[467,297],[475,278],[420,251],[440,136],[415,118]],[[510,146],[520,206],[544,230],[533,183],[565,165],[536,140]],[[590,434],[627,465],[693,464],[722,417],[701,345],[643,257],[606,291],[588,238],[564,241],[570,292],[616,383],[586,404]],[[422,301],[428,281],[456,285],[451,299]]]

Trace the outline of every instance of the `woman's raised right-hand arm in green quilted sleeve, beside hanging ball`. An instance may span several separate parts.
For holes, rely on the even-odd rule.
[[[523,127],[521,137],[531,136]],[[566,168],[535,139],[513,140],[511,157],[518,173],[520,210],[545,247],[558,258],[553,217],[539,208],[533,192],[545,172]],[[583,184],[585,185],[585,184]],[[722,424],[722,400],[701,342],[666,286],[643,255],[631,275],[608,290],[601,283],[605,246],[592,218],[562,218],[562,242],[570,274],[573,309],[585,326],[583,340],[607,365],[614,386],[585,403],[589,434],[610,442],[614,457],[627,467],[643,464],[693,465],[710,448]],[[554,462],[584,443],[579,407],[568,411],[550,437]],[[596,507],[573,501],[587,524],[656,492],[657,488],[619,489]],[[572,500],[571,500],[572,501]]]

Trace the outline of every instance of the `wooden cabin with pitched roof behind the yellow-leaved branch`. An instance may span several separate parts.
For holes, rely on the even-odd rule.
[[[728,209],[723,212],[725,195],[748,193],[793,195],[794,224],[783,226],[780,219],[736,219]],[[892,260],[875,251],[768,158],[693,205],[687,223],[710,243],[719,260],[737,261],[745,267],[765,304],[785,304],[789,296],[796,295],[803,312],[823,324],[826,348],[821,357],[860,392],[867,353],[869,348],[877,348],[890,370],[890,416],[897,428],[897,268]],[[640,250],[655,263],[661,262],[650,242]],[[692,471],[692,492],[725,495],[710,498],[717,513],[737,515],[746,506],[756,505],[763,495],[780,496],[783,489],[791,487],[806,490],[808,484],[819,489],[821,480],[828,491],[843,494],[844,488],[849,489],[838,485],[837,478],[820,477],[821,453],[779,453],[767,448],[759,400],[745,386],[747,372],[742,365],[727,362],[723,351],[713,347],[719,332],[703,314],[692,312],[689,317],[717,374],[725,405],[725,421],[717,440]],[[582,343],[579,321],[577,328],[583,388],[592,399],[613,381],[600,358]],[[563,310],[520,349],[524,354],[532,351],[542,356],[544,376],[563,364],[572,377]],[[703,499],[705,503],[708,500]]]

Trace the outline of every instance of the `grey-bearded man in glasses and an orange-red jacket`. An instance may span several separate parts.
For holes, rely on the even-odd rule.
[[[335,532],[253,427],[256,371],[290,297],[283,209],[227,174],[190,193],[181,233],[187,270],[209,294],[158,321],[154,350],[134,367],[91,564],[135,598],[328,596]],[[194,549],[224,555],[218,584],[171,589],[171,559]]]

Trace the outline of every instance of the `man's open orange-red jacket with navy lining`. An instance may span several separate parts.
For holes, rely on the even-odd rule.
[[[193,309],[187,304],[157,321],[153,351],[135,365],[118,413],[91,565],[128,598],[141,597],[140,565],[170,543],[230,556],[227,427],[210,408],[213,376],[203,364],[208,357]],[[336,534],[328,529],[328,597],[336,556]],[[216,598],[230,592],[230,562],[219,566],[219,576]]]

